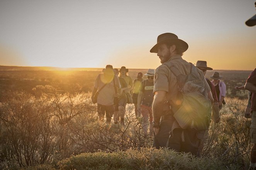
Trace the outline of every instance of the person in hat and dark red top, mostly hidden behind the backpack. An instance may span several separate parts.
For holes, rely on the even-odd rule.
[[[212,68],[207,67],[206,61],[198,60],[196,63],[196,67],[203,72],[204,76],[205,76],[207,70],[212,70]],[[214,84],[208,78],[205,78],[205,80],[207,81],[208,85],[210,86],[210,89],[212,92],[212,97],[214,98],[214,105],[212,107],[212,120],[214,121],[214,123],[219,123],[220,122],[220,114],[219,114],[219,100],[217,97],[217,93],[216,93]]]

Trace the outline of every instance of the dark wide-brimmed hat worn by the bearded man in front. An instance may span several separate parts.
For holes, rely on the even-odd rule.
[[[174,44],[178,48],[181,48],[183,52],[185,52],[188,49],[188,44],[179,39],[177,35],[174,33],[163,33],[157,37],[157,43],[154,45],[154,47],[151,48],[151,53],[158,53],[158,46],[159,44],[168,43],[168,44]]]

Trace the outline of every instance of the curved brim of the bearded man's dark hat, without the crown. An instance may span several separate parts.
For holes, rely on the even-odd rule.
[[[188,49],[188,44],[185,41],[177,38],[171,38],[158,42],[156,45],[154,45],[154,47],[151,48],[150,52],[158,53],[158,46],[163,43],[174,43],[175,45],[179,45],[179,47],[182,48],[183,52]]]

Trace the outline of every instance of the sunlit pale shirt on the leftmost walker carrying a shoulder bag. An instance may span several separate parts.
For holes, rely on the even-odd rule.
[[[107,83],[103,83],[103,82],[106,82],[106,78],[104,77],[104,74],[99,74],[97,76],[94,83],[95,88],[100,89],[106,84],[105,87],[103,87],[100,90],[100,93],[98,94],[98,99],[97,99],[98,104],[106,105],[106,106],[114,105],[115,86],[114,86],[113,80],[115,81],[115,85],[117,86],[117,88],[121,88],[119,79],[116,75],[114,75],[114,77]]]

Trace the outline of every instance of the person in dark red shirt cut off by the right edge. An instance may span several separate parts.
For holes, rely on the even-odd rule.
[[[251,162],[249,169],[256,170],[256,68],[246,80],[244,89],[249,90],[252,93],[250,137],[253,147],[251,148]]]

